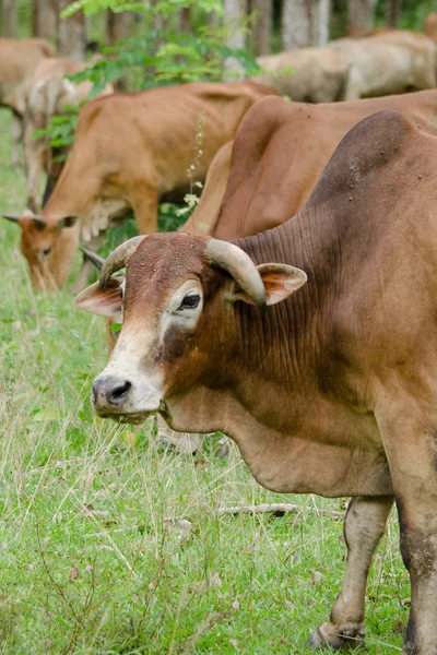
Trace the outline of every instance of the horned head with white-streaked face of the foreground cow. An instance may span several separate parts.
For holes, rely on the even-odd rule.
[[[110,277],[127,267],[126,281]],[[76,297],[85,311],[119,313],[123,323],[93,385],[95,410],[142,422],[201,384],[226,386],[226,362],[244,348],[238,305],[265,310],[306,282],[285,264],[256,266],[237,246],[181,234],[130,239],[106,260],[101,281]],[[176,427],[176,426],[173,426]]]

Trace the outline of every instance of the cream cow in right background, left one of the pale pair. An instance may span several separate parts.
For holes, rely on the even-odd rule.
[[[297,48],[258,57],[256,82],[302,103],[333,103],[347,95],[349,57],[330,48]],[[290,69],[290,70],[286,70]]]

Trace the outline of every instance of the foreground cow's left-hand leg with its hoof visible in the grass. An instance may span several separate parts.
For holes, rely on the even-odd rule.
[[[367,575],[392,504],[391,496],[351,500],[344,519],[346,572],[330,620],[308,640],[311,648],[349,648],[363,642]]]

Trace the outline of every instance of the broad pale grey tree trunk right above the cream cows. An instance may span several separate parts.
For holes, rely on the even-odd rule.
[[[324,46],[329,39],[330,0],[284,0],[282,46],[284,50]]]

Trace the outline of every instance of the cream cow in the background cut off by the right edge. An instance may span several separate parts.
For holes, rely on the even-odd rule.
[[[328,46],[349,60],[345,100],[436,86],[436,44],[405,29],[363,39],[338,39]]]

